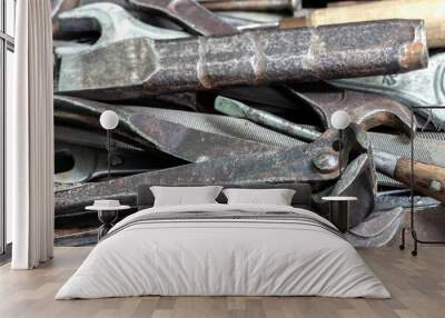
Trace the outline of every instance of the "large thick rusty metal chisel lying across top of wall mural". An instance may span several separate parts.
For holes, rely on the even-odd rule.
[[[63,57],[58,88],[66,95],[119,100],[405,72],[426,63],[423,22],[396,20],[166,41],[130,39]]]

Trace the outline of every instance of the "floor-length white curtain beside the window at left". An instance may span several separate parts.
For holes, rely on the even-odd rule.
[[[16,80],[7,106],[7,209],[12,211],[13,269],[31,269],[53,251],[53,110],[50,0],[19,0]]]

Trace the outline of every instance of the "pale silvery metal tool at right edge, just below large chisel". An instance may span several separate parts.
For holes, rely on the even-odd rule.
[[[433,56],[428,68],[406,74],[388,74],[332,81],[340,88],[388,95],[404,105],[415,107],[421,116],[437,128],[445,128],[445,53]],[[419,107],[444,106],[444,109]]]

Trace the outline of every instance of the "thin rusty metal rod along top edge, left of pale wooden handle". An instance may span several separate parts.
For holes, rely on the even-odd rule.
[[[210,11],[294,11],[301,10],[301,0],[200,0]]]

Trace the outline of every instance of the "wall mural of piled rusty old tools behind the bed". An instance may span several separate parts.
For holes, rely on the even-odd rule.
[[[409,202],[412,139],[415,206],[445,202],[444,1],[51,2],[59,244],[91,242],[83,207],[135,206],[142,183],[307,182],[319,213],[323,196],[359,197],[347,238],[383,246]]]

